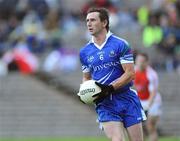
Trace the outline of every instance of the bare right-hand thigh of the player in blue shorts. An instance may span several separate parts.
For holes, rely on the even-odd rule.
[[[128,127],[127,132],[131,141],[143,141],[142,123]]]

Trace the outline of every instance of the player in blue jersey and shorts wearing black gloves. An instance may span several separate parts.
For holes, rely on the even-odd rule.
[[[131,141],[142,141],[145,114],[131,89],[135,77],[131,48],[109,31],[106,9],[91,8],[86,24],[92,39],[80,50],[80,61],[83,81],[93,79],[101,88],[94,101],[98,120],[111,141],[124,140],[124,127]]]

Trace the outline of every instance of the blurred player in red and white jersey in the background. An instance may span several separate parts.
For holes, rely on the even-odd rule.
[[[137,54],[135,62],[134,85],[143,109],[147,112],[146,129],[150,141],[157,141],[157,122],[162,112],[162,100],[158,92],[158,75],[156,71],[150,67],[147,54]]]

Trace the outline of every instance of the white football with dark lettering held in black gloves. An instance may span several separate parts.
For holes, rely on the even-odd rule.
[[[83,84],[80,85],[78,96],[80,99],[86,104],[93,104],[93,100],[96,95],[101,92],[101,88],[95,84],[94,80],[85,81]]]

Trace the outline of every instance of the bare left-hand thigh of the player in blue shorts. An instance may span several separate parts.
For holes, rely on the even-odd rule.
[[[101,124],[108,138],[117,137],[124,140],[124,125],[122,122],[109,121]]]

